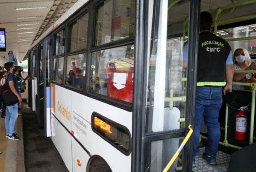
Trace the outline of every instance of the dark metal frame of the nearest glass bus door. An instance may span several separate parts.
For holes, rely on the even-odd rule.
[[[156,1],[161,3],[160,1]],[[189,23],[189,51],[187,66],[187,90],[186,92],[186,118],[185,126],[194,125],[195,117],[195,89],[197,76],[197,55],[199,40],[200,0],[190,1],[190,22]],[[188,128],[146,133],[145,114],[147,96],[147,38],[148,34],[148,1],[136,1],[136,37],[135,37],[135,64],[134,64],[134,102],[133,102],[133,128],[132,128],[132,162],[131,171],[140,172],[144,170],[145,149],[152,141],[159,141],[170,138],[184,137]],[[139,46],[138,46],[139,45]],[[137,58],[136,58],[137,57]],[[143,57],[143,58],[138,58]],[[182,160],[183,171],[192,171],[193,159],[193,135],[184,147]]]

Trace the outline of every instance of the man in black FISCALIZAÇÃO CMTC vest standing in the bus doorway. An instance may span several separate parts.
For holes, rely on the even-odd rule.
[[[200,14],[198,71],[194,124],[194,154],[199,152],[200,126],[204,118],[208,130],[207,147],[203,157],[210,165],[216,165],[216,153],[221,136],[218,121],[222,105],[222,91],[232,92],[233,62],[230,45],[212,33],[213,20],[209,12]],[[222,89],[223,87],[223,89]]]

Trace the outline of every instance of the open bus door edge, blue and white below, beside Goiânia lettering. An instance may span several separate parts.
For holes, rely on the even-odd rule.
[[[44,108],[44,135],[45,137],[51,136],[51,114],[50,114],[50,54],[51,54],[51,37],[44,40],[44,53],[42,61],[43,73],[43,108]]]

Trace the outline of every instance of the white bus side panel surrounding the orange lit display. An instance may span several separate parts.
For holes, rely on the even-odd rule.
[[[74,136],[91,155],[101,156],[112,171],[131,171],[131,154],[124,155],[91,128],[91,115],[97,112],[104,117],[127,127],[132,133],[132,112],[97,101],[82,94],[72,92],[72,130]],[[74,157],[73,155],[73,158]],[[118,163],[117,163],[118,162]]]

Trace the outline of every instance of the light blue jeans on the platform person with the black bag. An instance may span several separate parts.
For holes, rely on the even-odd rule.
[[[15,122],[18,117],[18,103],[10,106],[6,106],[6,116],[5,116],[5,129],[6,135],[13,135],[15,133],[14,127]]]

